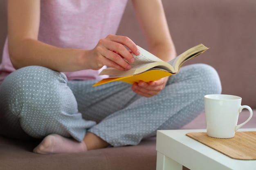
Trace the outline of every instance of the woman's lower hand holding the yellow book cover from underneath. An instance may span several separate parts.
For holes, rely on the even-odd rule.
[[[132,91],[144,97],[153,97],[165,88],[168,78],[169,77],[164,77],[149,83],[143,81],[134,83],[132,84]]]

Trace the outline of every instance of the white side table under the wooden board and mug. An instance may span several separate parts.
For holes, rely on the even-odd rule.
[[[256,128],[238,131],[256,131]],[[206,130],[158,130],[157,170],[256,170],[256,161],[232,159],[186,136]]]

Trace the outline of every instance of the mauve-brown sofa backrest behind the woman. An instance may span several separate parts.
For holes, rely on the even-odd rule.
[[[242,104],[256,108],[256,0],[162,2],[178,54],[200,43],[210,47],[185,64],[213,66],[220,75],[223,94],[238,95]],[[130,2],[117,34],[147,49]]]

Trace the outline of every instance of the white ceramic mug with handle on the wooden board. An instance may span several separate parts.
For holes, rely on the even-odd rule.
[[[234,95],[205,95],[204,110],[207,135],[216,138],[232,138],[235,132],[252,118],[252,108],[241,106],[242,98]],[[249,118],[237,125],[238,115],[244,109],[250,112]]]

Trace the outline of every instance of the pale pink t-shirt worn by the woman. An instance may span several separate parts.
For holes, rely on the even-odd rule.
[[[38,40],[61,48],[93,49],[100,39],[116,33],[127,0],[41,0],[40,3]],[[0,64],[0,84],[15,71],[7,41]],[[65,74],[68,79],[101,79],[99,71]]]

